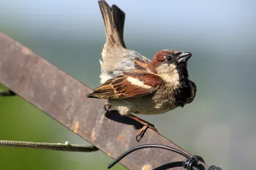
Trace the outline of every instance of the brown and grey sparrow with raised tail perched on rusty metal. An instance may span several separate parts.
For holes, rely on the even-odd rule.
[[[160,50],[152,60],[129,50],[124,43],[125,13],[118,6],[98,1],[106,31],[100,60],[101,85],[88,97],[108,99],[109,106],[141,124],[136,138],[154,125],[132,113],[157,115],[191,103],[196,85],[189,80],[187,62],[190,52]]]

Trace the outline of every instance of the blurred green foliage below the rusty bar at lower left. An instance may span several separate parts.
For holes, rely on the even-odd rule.
[[[0,89],[6,87],[0,85]],[[19,96],[0,97],[0,104],[0,139],[47,143],[79,141],[78,144],[90,145]],[[111,161],[112,159],[100,151],[72,153],[0,147],[1,169],[106,169]],[[113,169],[124,168],[117,165]]]

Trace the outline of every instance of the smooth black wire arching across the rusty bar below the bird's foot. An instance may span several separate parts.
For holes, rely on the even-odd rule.
[[[122,160],[125,156],[129,155],[130,153],[132,153],[136,150],[144,149],[144,148],[162,148],[162,149],[165,149],[165,150],[170,150],[172,152],[179,153],[180,155],[186,157],[186,159],[191,158],[187,153],[181,152],[180,150],[177,150],[177,149],[172,148],[172,147],[167,146],[167,145],[161,145],[161,144],[159,144],[159,145],[156,145],[156,144],[140,145],[140,146],[136,146],[134,148],[131,148],[130,150],[127,150],[127,152],[120,155],[120,157],[118,157],[116,160],[114,160],[111,164],[108,165],[108,169],[115,166],[115,164],[117,164],[120,160]]]

